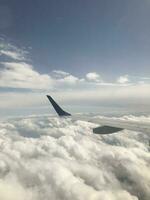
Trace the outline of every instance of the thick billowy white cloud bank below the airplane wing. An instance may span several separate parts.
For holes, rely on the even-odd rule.
[[[93,127],[46,116],[1,122],[0,199],[149,200],[150,136]]]

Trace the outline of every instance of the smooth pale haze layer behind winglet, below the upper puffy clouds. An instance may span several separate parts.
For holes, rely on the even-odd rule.
[[[58,83],[57,83],[58,84]],[[60,90],[47,90],[36,92],[0,92],[0,108],[9,110],[14,109],[19,112],[22,109],[31,109],[32,107],[41,107],[42,112],[46,112],[45,106],[49,106],[46,99],[46,94],[52,95],[61,105],[69,105],[70,111],[74,110],[74,106],[80,106],[80,110],[85,112],[94,112],[90,107],[97,107],[97,112],[101,112],[101,108],[105,106],[105,110],[112,109],[112,107],[121,106],[126,111],[145,112],[149,110],[150,106],[150,86],[138,85],[138,86],[93,86],[90,88],[87,85],[83,85],[83,88],[76,88],[74,84],[68,85],[59,82]],[[80,85],[80,84],[79,84]],[[65,88],[67,87],[67,89]],[[57,85],[58,87],[58,85]],[[94,88],[93,88],[94,87]],[[39,85],[37,85],[39,88]],[[107,107],[108,106],[108,107]],[[111,107],[110,107],[111,106]],[[39,112],[41,112],[39,111]],[[34,110],[36,112],[36,110]],[[0,116],[3,114],[0,113]]]

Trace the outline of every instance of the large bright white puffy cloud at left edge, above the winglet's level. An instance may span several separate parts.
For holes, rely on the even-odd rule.
[[[52,80],[47,74],[36,72],[27,63],[3,62],[0,71],[0,86],[11,88],[46,89],[51,88]]]

